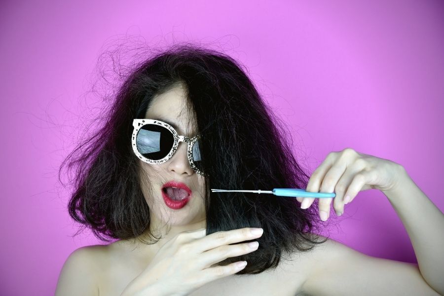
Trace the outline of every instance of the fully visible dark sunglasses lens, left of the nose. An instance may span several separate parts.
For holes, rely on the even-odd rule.
[[[137,133],[137,150],[151,160],[167,156],[173,144],[174,136],[170,130],[157,124],[145,124]]]

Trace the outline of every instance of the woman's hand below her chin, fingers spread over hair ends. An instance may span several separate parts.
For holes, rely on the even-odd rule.
[[[244,269],[238,261],[226,266],[214,266],[229,257],[236,257],[256,251],[257,241],[239,243],[259,238],[252,229],[241,228],[218,231],[209,235],[206,229],[185,231],[166,242],[156,253],[148,267],[123,291],[127,296],[174,295],[184,296],[214,280],[232,275]],[[252,248],[249,244],[254,245]],[[154,294],[152,294],[154,293]]]

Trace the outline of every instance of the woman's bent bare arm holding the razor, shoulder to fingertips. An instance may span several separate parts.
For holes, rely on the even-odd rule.
[[[444,215],[403,166],[351,148],[333,151],[313,172],[306,191],[336,194],[334,199],[318,199],[319,216],[326,221],[332,202],[340,216],[344,204],[367,189],[381,190],[387,196],[406,227],[418,264],[366,256],[329,240],[326,251],[318,254],[320,264],[310,271],[302,291],[314,295],[333,295],[331,291],[337,295],[443,295]],[[297,200],[306,209],[315,199]],[[360,292],[363,286],[368,287],[365,293]]]

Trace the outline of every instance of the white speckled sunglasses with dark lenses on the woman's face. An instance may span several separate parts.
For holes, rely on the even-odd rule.
[[[202,171],[199,149],[202,146],[201,135],[192,138],[179,136],[171,125],[154,119],[133,119],[133,126],[133,151],[142,161],[150,164],[164,163],[173,157],[179,142],[186,142],[189,165],[197,174],[208,177]]]

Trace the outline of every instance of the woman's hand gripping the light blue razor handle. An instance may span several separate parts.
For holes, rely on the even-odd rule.
[[[351,202],[361,190],[393,190],[399,185],[399,177],[404,168],[388,159],[359,153],[351,148],[330,152],[326,159],[313,172],[306,191],[335,193],[333,198],[297,197],[301,208],[311,206],[319,200],[319,216],[326,221],[330,216],[330,204],[337,216],[344,213],[344,204]],[[349,200],[347,200],[349,197]]]

